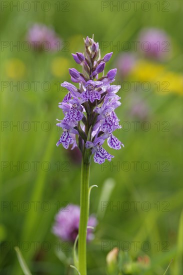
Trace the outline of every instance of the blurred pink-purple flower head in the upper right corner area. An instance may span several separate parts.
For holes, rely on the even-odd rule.
[[[144,28],[140,31],[138,38],[144,56],[163,60],[169,55],[170,39],[164,30]]]

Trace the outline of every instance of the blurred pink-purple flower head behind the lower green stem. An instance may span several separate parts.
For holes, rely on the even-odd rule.
[[[61,208],[55,216],[55,223],[52,231],[59,238],[74,242],[79,228],[80,207],[78,205],[69,204],[69,206]],[[88,226],[95,227],[97,220],[90,215]],[[94,235],[91,228],[87,229],[87,240],[93,239]]]

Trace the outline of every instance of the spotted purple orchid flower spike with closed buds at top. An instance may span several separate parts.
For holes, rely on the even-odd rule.
[[[112,52],[101,58],[93,37],[87,36],[84,45],[84,53],[72,53],[75,62],[82,66],[82,73],[75,68],[69,69],[71,80],[78,83],[78,87],[67,81],[61,83],[68,93],[58,105],[64,118],[57,123],[63,132],[56,145],[62,144],[66,149],[70,144],[72,148],[77,146],[82,153],[87,152],[88,158],[93,154],[94,162],[101,164],[113,157],[102,147],[105,139],[110,148],[118,150],[124,146],[113,135],[114,130],[121,128],[114,111],[120,105],[120,97],[116,94],[120,85],[111,84],[116,68],[104,72],[105,62]]]

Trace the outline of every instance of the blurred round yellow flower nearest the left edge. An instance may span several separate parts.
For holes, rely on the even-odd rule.
[[[18,58],[11,58],[5,62],[5,72],[9,78],[21,79],[25,74],[25,64]]]

